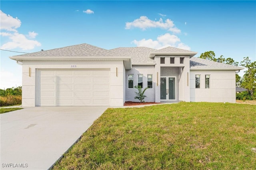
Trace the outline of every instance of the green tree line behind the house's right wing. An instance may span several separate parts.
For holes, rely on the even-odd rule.
[[[199,58],[245,67],[246,70],[244,71],[244,75],[242,77],[236,74],[236,86],[245,88],[247,91],[243,92],[242,94],[238,94],[237,98],[242,100],[256,100],[256,61],[252,62],[249,57],[244,57],[243,61],[238,63],[232,58],[225,59],[223,55],[216,58],[213,51],[206,51],[202,53]]]

